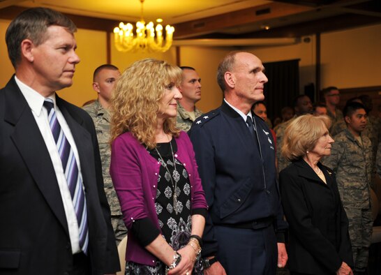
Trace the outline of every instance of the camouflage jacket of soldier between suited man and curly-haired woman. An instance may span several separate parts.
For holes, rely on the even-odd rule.
[[[110,177],[110,114],[98,101],[94,101],[94,103],[84,106],[83,109],[90,114],[96,128],[100,159],[102,161],[103,181],[105,182],[105,193],[110,205],[111,215],[121,215],[117,193],[115,193],[114,185],[112,184]]]

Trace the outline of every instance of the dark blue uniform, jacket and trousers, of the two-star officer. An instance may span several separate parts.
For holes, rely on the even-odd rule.
[[[193,142],[209,205],[203,255],[217,255],[227,274],[275,274],[277,242],[287,223],[276,179],[274,140],[253,114],[255,136],[230,105],[195,120]]]

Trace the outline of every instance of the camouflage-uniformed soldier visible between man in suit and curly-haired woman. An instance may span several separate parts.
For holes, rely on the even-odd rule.
[[[120,73],[117,67],[109,64],[99,66],[94,71],[93,88],[98,93],[98,100],[83,107],[90,114],[96,127],[96,135],[98,137],[100,159],[102,161],[102,174],[105,183],[105,193],[107,202],[111,210],[111,223],[114,228],[117,244],[126,234],[126,226],[121,216],[121,209],[117,193],[115,193],[114,185],[110,177],[110,114],[108,112],[109,100],[111,97],[114,83]]]

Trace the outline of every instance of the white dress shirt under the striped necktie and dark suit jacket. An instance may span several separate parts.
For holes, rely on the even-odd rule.
[[[43,139],[45,141],[47,151],[49,151],[50,158],[52,159],[54,172],[57,176],[59,191],[61,192],[63,208],[65,209],[66,221],[68,222],[71,249],[73,254],[78,253],[81,251],[80,230],[78,228],[77,216],[75,215],[73,200],[70,195],[70,191],[65,177],[65,171],[63,170],[61,158],[57,149],[57,144],[54,141],[52,130],[50,129],[47,110],[45,107],[43,107],[45,98],[38,94],[37,91],[31,89],[31,87],[22,83],[19,79],[17,79],[17,77],[15,77],[15,81],[17,83],[17,86],[20,88],[24,98],[27,100],[29,107],[31,108],[33,117],[34,119],[36,119],[38,128],[40,129],[41,135],[43,136]],[[52,98],[54,102],[54,110],[56,112],[57,119],[63,130],[63,133],[66,136],[66,139],[68,140],[71,148],[73,149],[75,160],[77,161],[78,165],[78,172],[80,177],[82,178],[80,158],[78,155],[77,147],[75,146],[73,135],[71,134],[70,128],[66,123],[63,114],[56,105],[56,94],[53,94],[49,98]]]

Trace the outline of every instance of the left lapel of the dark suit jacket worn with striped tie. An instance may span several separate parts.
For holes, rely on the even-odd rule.
[[[38,129],[36,120],[14,78],[6,86],[5,121],[14,127],[10,138],[20,152],[31,177],[43,194],[47,204],[68,232],[61,193],[52,160]],[[32,206],[31,206],[32,207]]]

